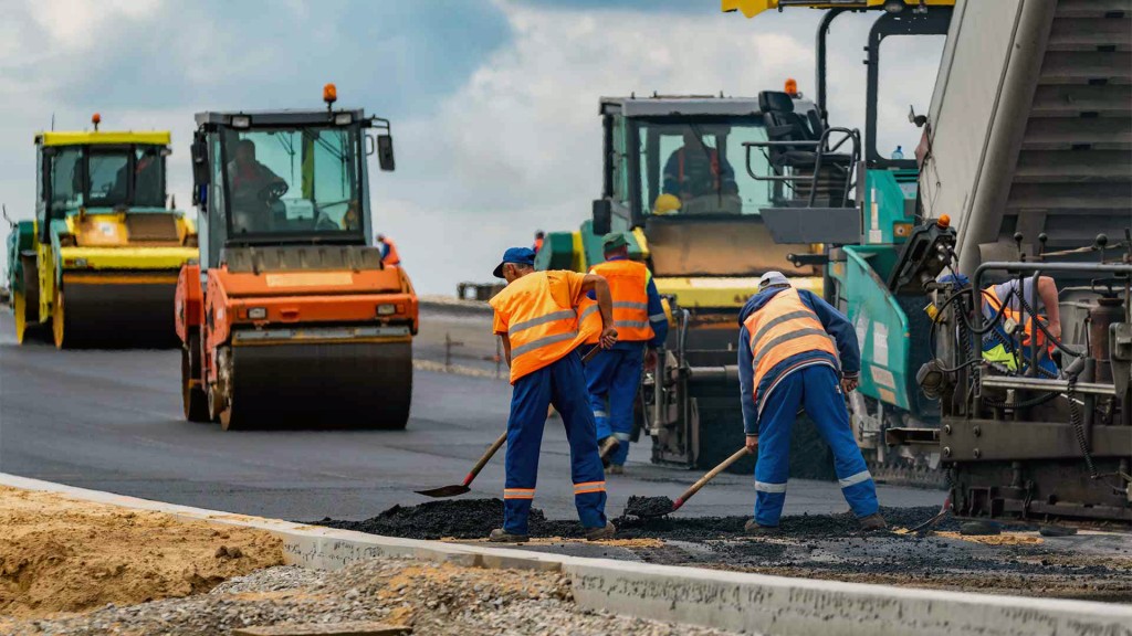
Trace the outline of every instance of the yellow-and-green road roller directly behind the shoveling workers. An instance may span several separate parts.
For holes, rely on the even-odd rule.
[[[814,106],[799,98],[796,108]],[[600,115],[602,197],[580,231],[548,234],[535,266],[584,272],[603,260],[602,235],[626,234],[674,327],[664,363],[645,375],[636,432],[652,437],[653,462],[714,466],[744,444],[736,398],[739,309],[767,270],[816,293],[821,270],[787,259],[809,255],[812,246],[774,242],[761,215],[774,187],[743,169],[745,144],[767,139],[757,100],[607,97]]]

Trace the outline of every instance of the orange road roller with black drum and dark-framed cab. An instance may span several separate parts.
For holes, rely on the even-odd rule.
[[[177,283],[185,416],[233,428],[403,429],[417,294],[372,235],[386,119],[336,109],[197,113],[199,259]]]

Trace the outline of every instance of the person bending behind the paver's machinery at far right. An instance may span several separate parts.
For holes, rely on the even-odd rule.
[[[1011,371],[1021,370],[1024,373],[1029,369],[1030,346],[1036,336],[1038,375],[1056,378],[1057,364],[1052,358],[1054,345],[1048,342],[1041,329],[1032,324],[1030,312],[1022,308],[1019,295],[1037,312],[1038,321],[1046,326],[1049,335],[1061,338],[1057,283],[1049,276],[1038,276],[1038,289],[1035,293],[1034,277],[1030,276],[1023,278],[1022,291],[1019,294],[1018,280],[1011,278],[983,290],[984,320],[994,320],[1001,312],[998,321],[983,336],[983,359],[1002,364]],[[1004,303],[1005,309],[1003,309]]]

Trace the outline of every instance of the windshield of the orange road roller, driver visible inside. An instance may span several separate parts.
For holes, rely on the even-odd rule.
[[[355,127],[228,130],[229,235],[360,235]]]

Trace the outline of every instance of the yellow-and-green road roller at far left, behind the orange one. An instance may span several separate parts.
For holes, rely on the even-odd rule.
[[[197,231],[165,195],[168,131],[35,136],[35,215],[9,222],[16,340],[59,349],[170,346],[178,272]],[[170,203],[171,198],[170,198]],[[7,216],[7,214],[6,214]]]

